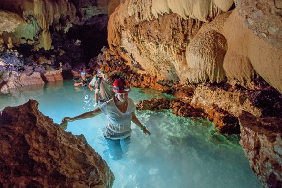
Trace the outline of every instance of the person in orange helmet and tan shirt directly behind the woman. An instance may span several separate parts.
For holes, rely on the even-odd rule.
[[[108,66],[101,66],[100,72],[102,75],[101,81],[97,81],[95,84],[95,104],[98,105],[98,98],[100,92],[100,102],[106,102],[114,97],[115,93],[112,91],[113,79],[109,75],[110,68]]]

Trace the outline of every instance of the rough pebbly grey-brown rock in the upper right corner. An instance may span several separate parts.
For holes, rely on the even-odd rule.
[[[271,46],[282,50],[282,1],[235,0],[245,27]]]

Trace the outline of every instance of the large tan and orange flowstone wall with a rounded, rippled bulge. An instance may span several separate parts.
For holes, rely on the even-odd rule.
[[[232,3],[124,1],[109,18],[109,46],[121,47],[127,54],[117,52],[118,55],[141,65],[142,69],[135,69],[136,72],[155,75],[156,80],[185,84],[209,79],[219,83],[226,77],[244,85],[258,74],[281,93],[281,16],[274,17],[281,10],[279,1],[275,1],[275,12],[269,18],[256,17],[260,19],[253,23],[252,29],[248,29],[250,25],[245,19],[245,12],[249,13],[252,7],[244,6],[246,1],[235,1],[238,8],[223,13]],[[264,6],[258,6],[257,11],[259,8],[265,10]],[[256,36],[256,29],[261,30],[258,26],[264,21],[268,23],[269,34],[279,22],[270,40]]]

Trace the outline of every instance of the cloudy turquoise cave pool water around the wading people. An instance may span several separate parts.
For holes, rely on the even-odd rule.
[[[161,96],[150,89],[133,88],[129,93],[134,102]],[[93,91],[74,87],[73,81],[61,81],[0,94],[0,110],[29,98],[37,100],[39,110],[54,123],[94,109]],[[262,187],[238,136],[219,135],[207,120],[177,117],[169,110],[136,111],[136,116],[151,136],[132,123],[130,138],[118,143],[103,137],[104,114],[68,123],[66,131],[84,134],[110,166],[114,188]]]

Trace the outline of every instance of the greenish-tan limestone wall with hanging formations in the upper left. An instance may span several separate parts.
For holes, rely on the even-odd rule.
[[[93,15],[107,14],[108,2],[108,0],[85,2],[1,0],[0,19],[21,24],[13,24],[10,29],[6,28],[7,24],[0,24],[0,38],[8,43],[8,37],[11,37],[13,44],[28,43],[34,45],[35,49],[49,50],[52,43],[49,26],[57,24],[56,29],[67,32],[72,24],[83,24]],[[12,12],[8,19],[3,13],[6,11]],[[64,23],[59,23],[59,18],[62,17]]]

